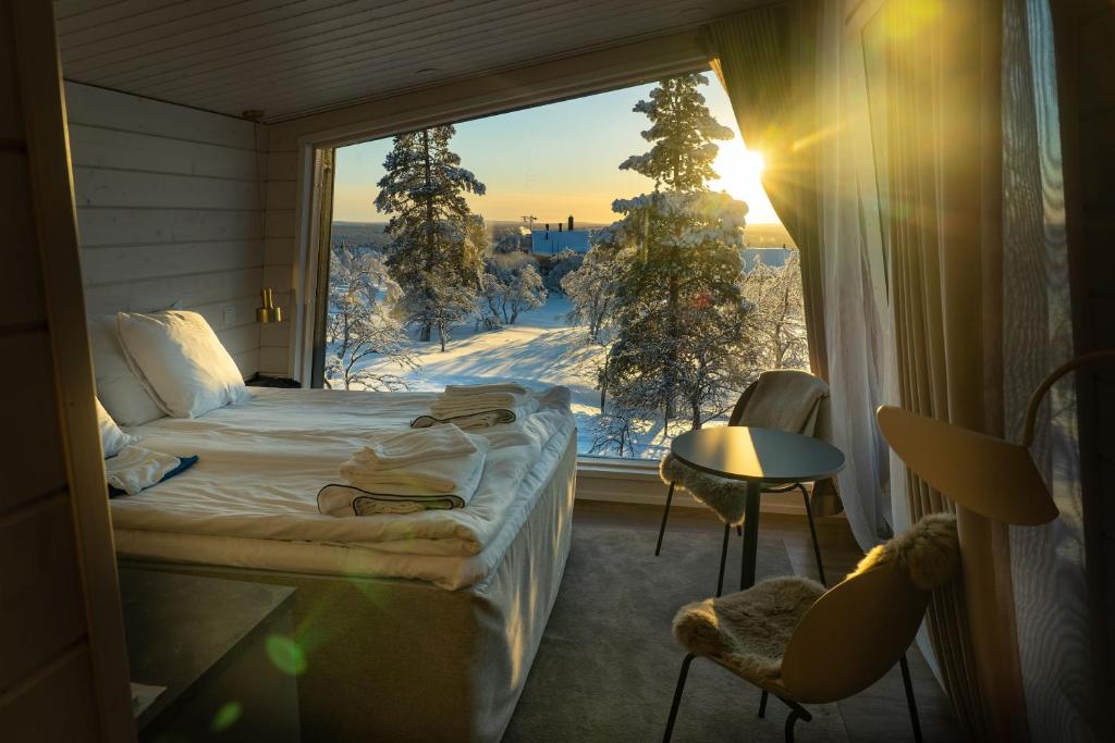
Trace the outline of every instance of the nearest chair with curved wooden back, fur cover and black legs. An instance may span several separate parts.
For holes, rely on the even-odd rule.
[[[931,592],[959,571],[956,518],[932,514],[871,550],[843,583],[827,592],[814,580],[772,578],[723,598],[688,604],[673,618],[673,636],[689,651],[681,664],[665,741],[673,732],[689,665],[706,657],[789,707],[786,741],[802,704],[856,694],[898,663],[914,740],[921,741],[905,651],[921,626]]]

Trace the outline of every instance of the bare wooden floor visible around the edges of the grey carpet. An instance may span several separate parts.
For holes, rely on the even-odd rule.
[[[653,549],[661,518],[662,511],[659,507],[584,499],[578,500],[573,510],[574,525],[597,524],[627,527],[633,531],[644,532],[639,538],[646,539],[648,549]],[[852,530],[842,516],[817,519],[816,527],[825,574],[831,585],[835,577],[846,575],[855,567],[863,551],[855,544]],[[705,509],[675,508],[670,512],[667,538],[671,530],[708,531],[709,539],[719,539],[723,525]],[[767,537],[777,536],[783,540],[797,575],[817,577],[809,529],[804,516],[764,514],[759,532]],[[730,574],[725,580],[728,585],[731,584]],[[917,647],[911,648],[909,657],[924,740],[950,742],[966,740],[948,697]],[[837,706],[852,743],[913,740],[902,676],[896,666],[874,686],[840,702]]]

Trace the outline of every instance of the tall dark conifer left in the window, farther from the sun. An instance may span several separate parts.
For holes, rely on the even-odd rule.
[[[420,341],[436,329],[442,350],[449,330],[475,310],[486,243],[483,221],[465,201],[485,187],[449,149],[455,133],[437,126],[395,137],[375,202],[391,215],[387,266],[403,290],[406,323]]]

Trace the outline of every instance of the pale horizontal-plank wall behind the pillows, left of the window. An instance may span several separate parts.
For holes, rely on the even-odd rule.
[[[88,312],[194,310],[245,375],[259,371],[256,126],[78,84],[67,94]]]

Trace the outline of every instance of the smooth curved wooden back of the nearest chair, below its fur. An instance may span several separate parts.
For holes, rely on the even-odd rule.
[[[930,594],[896,561],[847,578],[809,607],[782,662],[782,683],[797,702],[824,704],[879,681],[905,653]]]

